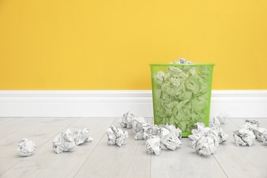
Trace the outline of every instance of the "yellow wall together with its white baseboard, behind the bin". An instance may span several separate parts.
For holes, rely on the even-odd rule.
[[[3,0],[0,116],[151,116],[149,64],[186,58],[216,64],[212,114],[266,117],[266,6]]]

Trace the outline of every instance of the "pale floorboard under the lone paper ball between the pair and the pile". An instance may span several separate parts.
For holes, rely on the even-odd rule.
[[[121,128],[118,118],[112,125]],[[76,177],[150,177],[151,155],[144,149],[144,140],[135,140],[133,129],[124,130],[129,133],[127,144],[108,145],[104,136]]]

